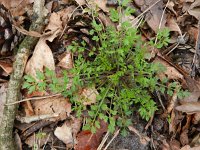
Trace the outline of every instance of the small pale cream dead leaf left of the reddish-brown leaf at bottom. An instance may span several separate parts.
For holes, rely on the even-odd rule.
[[[55,136],[65,144],[73,143],[72,128],[67,126],[66,122],[61,126],[57,127],[54,131]]]

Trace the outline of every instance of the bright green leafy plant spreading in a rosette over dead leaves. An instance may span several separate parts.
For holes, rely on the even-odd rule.
[[[119,9],[123,7],[122,4]],[[133,11],[126,8],[124,12],[130,14]],[[121,22],[121,17],[122,14],[118,15],[116,10],[111,11],[111,19],[120,22],[120,29],[112,26],[104,29],[95,19],[92,21],[93,29],[89,33],[96,46],[88,49],[84,41],[73,41],[67,50],[73,53],[74,68],[63,72],[62,78],[57,78],[53,71],[46,69],[44,73],[37,72],[38,80],[25,76],[23,88],[27,88],[29,92],[47,88],[55,93],[60,92],[70,97],[73,110],[80,116],[86,106],[78,100],[78,91],[95,86],[99,94],[96,103],[87,108],[89,117],[84,126],[84,129],[92,132],[100,128],[99,119],[102,119],[109,123],[110,132],[118,126],[126,134],[134,109],[138,109],[143,119],[149,120],[157,110],[151,93],[157,90],[172,95],[178,82],[167,86],[166,79],[160,81],[157,78],[156,74],[162,72],[164,67],[158,63],[149,63],[146,59],[147,47],[152,45],[152,41],[142,41],[138,30],[128,21]],[[167,30],[158,34],[155,47],[167,44],[169,34],[166,32]],[[69,73],[73,75],[72,86],[67,89]],[[178,96],[187,95],[181,88],[178,90]]]

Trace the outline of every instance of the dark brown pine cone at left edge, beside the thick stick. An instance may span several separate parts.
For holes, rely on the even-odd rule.
[[[0,56],[10,55],[14,47],[19,43],[19,37],[20,33],[12,26],[12,16],[0,4]]]

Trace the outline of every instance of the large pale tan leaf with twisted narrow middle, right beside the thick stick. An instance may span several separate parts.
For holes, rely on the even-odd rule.
[[[50,70],[55,70],[55,63],[51,49],[47,45],[46,41],[52,42],[62,31],[62,21],[60,15],[52,13],[49,19],[49,24],[45,29],[46,35],[41,37],[38,41],[33,56],[28,61],[25,73],[36,78],[36,72],[43,72],[43,68],[46,67]]]

